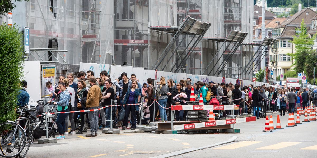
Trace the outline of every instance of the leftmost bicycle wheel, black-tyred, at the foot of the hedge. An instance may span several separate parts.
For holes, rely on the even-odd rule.
[[[0,156],[15,157],[19,155],[27,141],[26,134],[21,126],[15,122],[4,122],[0,124]]]

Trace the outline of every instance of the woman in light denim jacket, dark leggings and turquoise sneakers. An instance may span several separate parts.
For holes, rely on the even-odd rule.
[[[60,95],[60,100],[58,102],[54,102],[54,104],[57,104],[57,112],[68,112],[68,104],[69,104],[69,99],[70,99],[70,93],[66,89],[65,83],[61,82],[58,84],[58,89],[61,92]],[[51,101],[49,101],[51,102]],[[65,139],[65,118],[68,116],[68,113],[62,113],[62,114],[57,114],[57,118],[55,120],[58,132],[60,135],[56,137],[56,139]]]

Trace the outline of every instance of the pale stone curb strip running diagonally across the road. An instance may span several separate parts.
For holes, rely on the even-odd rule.
[[[171,157],[171,156],[176,156],[176,155],[189,153],[189,152],[196,151],[196,150],[211,148],[211,147],[215,147],[215,146],[218,146],[218,145],[223,145],[223,144],[227,144],[227,143],[233,142],[233,141],[236,140],[236,138],[238,138],[238,137],[237,136],[232,136],[228,141],[223,141],[223,142],[219,142],[219,143],[215,143],[215,144],[211,144],[211,145],[206,145],[206,146],[202,146],[202,147],[198,147],[198,148],[183,149],[183,150],[174,151],[174,152],[171,152],[171,153],[168,153],[168,154],[153,156],[151,158],[166,158],[166,157]]]

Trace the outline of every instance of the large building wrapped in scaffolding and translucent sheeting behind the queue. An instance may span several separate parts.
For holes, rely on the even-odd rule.
[[[30,28],[28,60],[42,63],[244,79],[254,54],[253,0],[29,0],[12,15]]]

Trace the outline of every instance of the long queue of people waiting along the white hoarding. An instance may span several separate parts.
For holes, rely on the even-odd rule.
[[[18,104],[23,106],[29,102],[29,95],[26,91],[27,82],[23,81],[21,85],[23,88],[18,96]],[[313,92],[309,89],[295,92],[293,88],[275,89],[265,85],[254,87],[251,84],[240,87],[231,82],[227,84],[213,81],[194,83],[191,78],[174,82],[171,79],[165,80],[165,77],[160,77],[155,87],[151,78],[141,84],[135,74],[128,76],[123,72],[117,79],[111,80],[107,71],[101,71],[99,77],[95,77],[94,72],[90,70],[81,71],[76,77],[72,73],[67,76],[61,75],[55,86],[51,82],[47,82],[46,86],[52,98],[49,102],[57,105],[57,112],[104,108],[89,112],[58,114],[55,122],[60,135],[56,139],[65,139],[65,135],[68,135],[68,120],[71,124],[69,134],[83,134],[88,132],[89,127],[90,132],[86,135],[87,137],[98,136],[98,130],[110,128],[111,117],[113,117],[112,127],[123,130],[126,128],[135,130],[137,123],[170,121],[170,110],[167,108],[171,105],[186,105],[191,97],[192,86],[195,98],[198,100],[201,94],[204,105],[210,104],[211,100],[216,98],[219,104],[239,105],[239,109],[234,110],[234,115],[253,113],[257,119],[260,118],[260,113],[265,112],[269,106],[272,106],[273,111],[279,108],[281,115],[283,112],[285,116],[287,110],[294,112],[297,107],[304,108],[310,102],[313,101],[316,104],[317,101],[316,87]],[[141,100],[141,98],[144,99]],[[159,106],[151,106],[154,99],[158,101]],[[114,103],[111,100],[116,100],[119,105],[113,106],[112,114],[108,107]],[[231,110],[215,112],[221,113],[222,118],[231,114]],[[187,120],[187,111],[176,110],[175,115],[176,121]],[[75,129],[77,124],[80,125],[79,129]],[[78,131],[75,133],[76,130]]]

